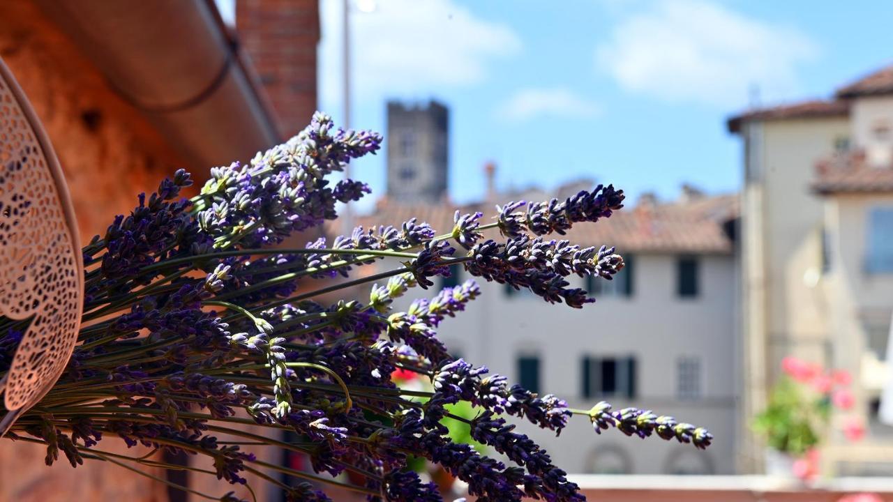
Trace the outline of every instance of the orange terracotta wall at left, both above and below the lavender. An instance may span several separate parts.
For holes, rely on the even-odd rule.
[[[153,189],[180,164],[146,121],[113,94],[34,5],[0,3],[0,57],[54,145],[84,241],[104,233],[114,214],[128,213],[136,204],[138,191]],[[127,449],[117,439],[103,441],[103,448]],[[44,456],[45,448],[0,440],[0,500],[167,499],[154,481],[113,464],[88,462],[72,469],[62,460],[46,467]]]

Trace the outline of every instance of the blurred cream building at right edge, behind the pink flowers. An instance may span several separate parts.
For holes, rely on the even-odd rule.
[[[744,150],[745,416],[764,406],[784,356],[846,369],[856,379],[850,415],[869,424],[869,436],[852,445],[835,434],[827,468],[889,475],[893,431],[877,412],[890,384],[893,67],[829,100],[752,110],[728,126]],[[759,441],[742,434],[750,435],[743,468],[754,469]]]

